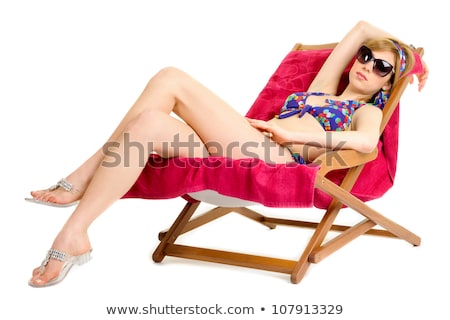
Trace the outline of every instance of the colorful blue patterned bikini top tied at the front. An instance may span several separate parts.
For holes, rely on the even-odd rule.
[[[325,105],[312,106],[306,104],[311,96],[324,96],[323,92],[296,92],[286,98],[278,118],[283,119],[298,114],[301,118],[306,112],[311,114],[322,125],[325,131],[344,131],[350,128],[354,112],[365,105],[355,100],[337,101],[325,99]]]

